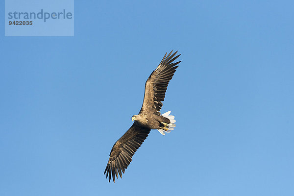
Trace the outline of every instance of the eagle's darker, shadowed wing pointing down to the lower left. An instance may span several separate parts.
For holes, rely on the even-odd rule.
[[[124,170],[132,161],[132,156],[147,138],[149,132],[150,129],[137,125],[135,122],[113,145],[104,171],[106,178],[107,176],[109,177],[109,182],[111,175],[113,182],[115,181],[115,175],[119,178],[119,174],[122,178],[122,172],[124,173]]]

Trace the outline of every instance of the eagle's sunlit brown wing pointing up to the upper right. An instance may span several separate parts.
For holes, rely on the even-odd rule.
[[[175,69],[178,67],[176,65],[181,62],[173,63],[180,56],[180,54],[175,56],[176,52],[172,54],[171,51],[168,56],[166,53],[158,67],[148,77],[145,84],[145,95],[141,111],[152,111],[153,113],[160,114],[161,101],[164,100],[169,82]]]

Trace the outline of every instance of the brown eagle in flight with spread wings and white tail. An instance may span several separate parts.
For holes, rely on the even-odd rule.
[[[160,114],[162,101],[165,98],[168,84],[181,61],[173,62],[179,55],[172,51],[164,55],[158,67],[150,74],[145,84],[145,95],[142,108],[138,115],[132,116],[133,125],[123,134],[123,136],[113,145],[109,160],[104,171],[106,178],[113,182],[115,176],[122,178],[122,172],[132,161],[132,157],[137,149],[147,138],[151,129],[157,129],[162,135],[171,132],[175,127],[174,116],[171,111]]]

